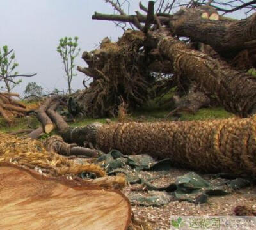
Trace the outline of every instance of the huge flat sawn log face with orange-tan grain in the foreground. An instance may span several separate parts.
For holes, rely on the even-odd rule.
[[[0,229],[125,230],[130,224],[129,200],[116,190],[11,164],[0,164],[0,178]]]

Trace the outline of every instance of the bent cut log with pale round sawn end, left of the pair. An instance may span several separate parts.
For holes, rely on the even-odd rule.
[[[42,125],[44,127],[44,132],[46,134],[49,134],[50,132],[52,132],[52,130],[54,130],[54,124],[52,123],[49,116],[46,114],[46,111],[47,111],[47,109],[49,109],[52,102],[54,100],[56,100],[56,98],[58,98],[58,96],[51,96],[51,97],[47,98],[45,100],[44,104],[42,104],[37,111],[37,117],[38,117],[39,121],[42,123]]]

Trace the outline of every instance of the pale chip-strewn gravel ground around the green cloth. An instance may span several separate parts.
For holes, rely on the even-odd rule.
[[[177,176],[188,173],[185,169],[171,169],[170,171],[150,172],[151,176],[156,176],[156,180],[151,181],[154,185],[164,186],[173,183]],[[141,173],[141,176],[148,176],[148,172]],[[200,174],[205,179],[207,175]],[[221,181],[216,179],[214,181]],[[213,180],[211,180],[212,182]],[[124,194],[130,197],[134,193],[142,195],[150,194],[142,185],[129,185],[124,188]],[[171,215],[234,215],[236,206],[246,205],[256,208],[256,186],[247,187],[236,192],[223,196],[211,196],[207,203],[193,204],[188,201],[177,201],[170,195],[170,203],[164,206],[140,206],[132,204],[132,211],[136,220],[147,222],[154,230],[170,229]]]

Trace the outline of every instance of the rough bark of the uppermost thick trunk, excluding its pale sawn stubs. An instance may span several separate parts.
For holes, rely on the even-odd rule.
[[[221,56],[234,57],[237,52],[256,45],[256,13],[237,21],[202,18],[211,8],[182,9],[170,20],[172,33],[211,45]],[[211,13],[210,12],[210,16]]]

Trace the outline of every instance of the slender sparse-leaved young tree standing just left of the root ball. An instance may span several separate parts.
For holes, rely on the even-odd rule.
[[[68,93],[72,93],[71,82],[74,76],[74,60],[80,52],[80,48],[77,43],[78,37],[74,38],[61,38],[57,47],[57,52],[60,54],[66,73],[66,79],[68,82]]]

